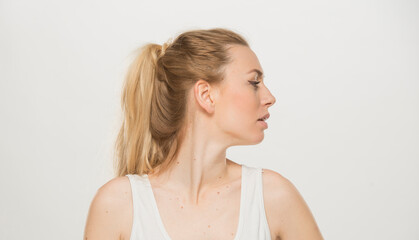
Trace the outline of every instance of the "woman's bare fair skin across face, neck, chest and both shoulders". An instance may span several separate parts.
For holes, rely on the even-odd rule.
[[[276,101],[264,84],[254,52],[235,45],[229,53],[233,61],[221,85],[199,80],[189,92],[186,140],[175,164],[159,175],[149,175],[161,219],[173,240],[234,239],[241,166],[226,158],[226,150],[260,143],[266,128],[257,120]],[[252,81],[260,81],[257,88]],[[264,169],[262,176],[272,239],[323,239],[294,185],[273,170]],[[128,240],[132,217],[129,180],[114,178],[93,198],[84,239]]]

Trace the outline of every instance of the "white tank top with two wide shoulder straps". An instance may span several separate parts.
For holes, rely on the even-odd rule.
[[[130,240],[171,240],[164,228],[148,175],[126,175],[131,183],[133,223]],[[242,164],[239,224],[234,240],[271,240],[265,215],[262,169]]]

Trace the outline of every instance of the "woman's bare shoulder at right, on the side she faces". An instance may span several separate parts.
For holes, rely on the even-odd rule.
[[[276,239],[322,240],[314,216],[294,184],[270,169],[263,169],[262,176],[266,217]]]

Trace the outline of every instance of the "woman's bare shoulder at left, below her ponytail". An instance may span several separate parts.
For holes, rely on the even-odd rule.
[[[129,239],[132,194],[128,177],[116,177],[101,186],[90,204],[84,239]]]

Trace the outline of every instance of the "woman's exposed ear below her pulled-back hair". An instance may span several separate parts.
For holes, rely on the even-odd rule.
[[[218,91],[205,80],[198,80],[194,85],[194,96],[197,103],[208,113],[215,110],[215,99]]]

